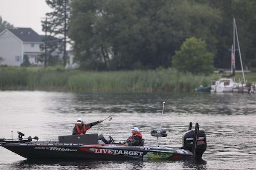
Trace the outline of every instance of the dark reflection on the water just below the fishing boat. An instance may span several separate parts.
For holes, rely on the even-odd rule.
[[[125,161],[97,161],[97,160],[38,160],[26,159],[12,164],[10,170],[24,169],[44,169],[51,170],[110,170],[110,169],[128,169],[128,170],[151,170],[151,168],[161,167],[168,169],[170,164],[175,164],[178,169],[205,170],[207,161],[169,161],[169,160],[125,160]]]

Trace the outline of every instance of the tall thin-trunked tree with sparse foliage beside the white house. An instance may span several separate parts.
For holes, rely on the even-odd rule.
[[[63,46],[58,47],[58,51],[63,51],[63,64],[66,65],[66,44],[68,23],[70,20],[71,0],[46,0],[46,3],[54,11],[46,14],[47,20],[43,20],[43,31],[49,32],[49,36],[56,37],[63,42]]]

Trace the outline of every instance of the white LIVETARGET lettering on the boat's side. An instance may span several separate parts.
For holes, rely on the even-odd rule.
[[[133,150],[116,150],[116,149],[98,149],[98,148],[95,148],[94,153],[143,156],[143,152],[133,151]]]

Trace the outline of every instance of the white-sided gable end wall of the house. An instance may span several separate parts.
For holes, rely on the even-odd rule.
[[[0,35],[0,57],[4,59],[0,65],[20,66],[23,60],[21,40],[7,30]],[[20,61],[16,58],[20,58]]]

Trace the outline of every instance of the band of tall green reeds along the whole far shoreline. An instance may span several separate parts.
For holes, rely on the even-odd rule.
[[[256,73],[245,74],[249,82]],[[81,92],[193,92],[209,86],[220,74],[194,75],[173,68],[136,71],[81,71],[48,68],[0,68],[0,90]],[[236,74],[236,79],[242,78]]]

